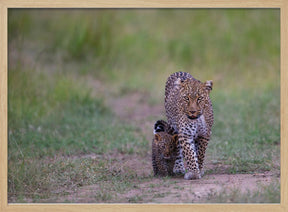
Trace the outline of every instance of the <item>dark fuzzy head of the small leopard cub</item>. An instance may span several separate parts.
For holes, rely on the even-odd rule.
[[[158,146],[161,157],[171,160],[177,154],[178,135],[159,132],[154,135],[154,142]]]

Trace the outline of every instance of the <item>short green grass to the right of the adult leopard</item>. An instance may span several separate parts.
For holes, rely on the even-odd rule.
[[[271,170],[279,160],[279,89],[249,92],[213,96],[216,119],[208,151],[212,160],[231,165],[231,173]]]

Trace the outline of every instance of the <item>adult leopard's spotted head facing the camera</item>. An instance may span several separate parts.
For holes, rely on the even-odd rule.
[[[209,80],[202,83],[195,79],[178,78],[175,85],[179,88],[180,110],[189,119],[199,118],[203,114],[203,109],[209,104],[209,93],[213,82]]]

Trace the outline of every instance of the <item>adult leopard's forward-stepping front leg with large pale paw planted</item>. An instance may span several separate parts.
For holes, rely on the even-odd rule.
[[[200,179],[200,170],[198,164],[198,157],[195,147],[195,140],[193,136],[187,136],[181,132],[178,135],[179,143],[183,149],[183,156],[187,162],[188,172],[184,175],[184,179]]]

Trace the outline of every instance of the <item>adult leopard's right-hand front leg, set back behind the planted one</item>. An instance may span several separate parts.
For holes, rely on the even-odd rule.
[[[203,137],[203,136],[199,136],[195,141],[201,177],[204,175],[203,167],[204,167],[205,152],[208,146],[208,142],[209,142],[209,138]]]

